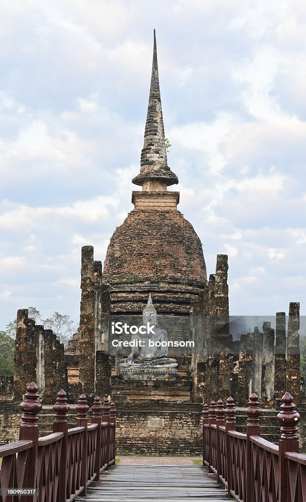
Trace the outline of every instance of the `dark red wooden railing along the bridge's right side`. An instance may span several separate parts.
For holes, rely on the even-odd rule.
[[[305,502],[306,455],[298,453],[297,423],[300,419],[293,398],[282,398],[277,421],[281,426],[278,445],[260,437],[261,410],[256,394],[246,409],[246,434],[236,431],[233,399],[210,408],[205,403],[203,419],[203,465],[223,483],[228,496],[238,502]]]

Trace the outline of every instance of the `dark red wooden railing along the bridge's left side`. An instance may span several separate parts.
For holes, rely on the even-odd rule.
[[[20,405],[20,440],[0,447],[1,502],[71,502],[86,495],[87,486],[99,479],[100,471],[115,463],[114,403],[109,405],[105,398],[102,406],[95,397],[88,425],[89,406],[82,394],[76,407],[77,427],[68,429],[70,407],[62,389],[53,406],[53,433],[39,438],[42,405],[37,390],[32,382]]]

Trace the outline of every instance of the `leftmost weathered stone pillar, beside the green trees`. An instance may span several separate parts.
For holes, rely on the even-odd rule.
[[[14,353],[14,399],[23,400],[24,390],[36,380],[36,346],[33,342],[33,322],[28,309],[17,312],[16,345]]]

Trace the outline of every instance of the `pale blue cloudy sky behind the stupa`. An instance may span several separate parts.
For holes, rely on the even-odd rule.
[[[179,209],[235,315],[306,302],[306,4],[11,0],[0,16],[0,329],[79,316],[80,250],[104,260],[139,171],[158,58]]]

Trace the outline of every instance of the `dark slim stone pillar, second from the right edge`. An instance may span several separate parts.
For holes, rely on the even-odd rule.
[[[286,314],[276,312],[275,332],[275,357],[274,357],[274,407],[282,404],[282,396],[286,392]]]

